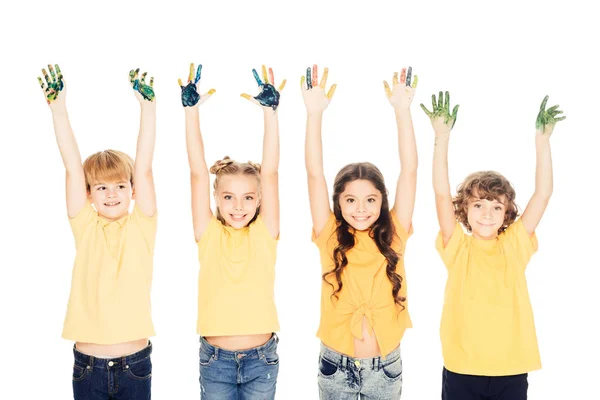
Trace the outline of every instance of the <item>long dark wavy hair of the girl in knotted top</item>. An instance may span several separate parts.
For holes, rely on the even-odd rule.
[[[400,288],[402,287],[403,278],[396,272],[396,266],[400,260],[401,254],[398,254],[392,249],[392,241],[396,234],[390,206],[388,201],[388,192],[385,187],[383,175],[379,169],[368,162],[348,164],[338,172],[333,184],[333,214],[337,222],[335,234],[337,236],[338,245],[333,250],[334,268],[323,274],[323,281],[327,282],[334,289],[331,297],[339,299],[338,293],[342,290],[342,273],[348,265],[346,253],[356,244],[354,236],[354,228],[342,216],[340,207],[340,194],[345,190],[349,182],[357,179],[363,179],[371,182],[375,188],[381,193],[381,212],[377,221],[369,228],[369,236],[375,241],[377,248],[387,260],[386,274],[392,283],[392,297],[394,302],[405,309],[402,304],[406,301],[406,297],[399,296]],[[327,276],[335,275],[337,288],[327,280]]]

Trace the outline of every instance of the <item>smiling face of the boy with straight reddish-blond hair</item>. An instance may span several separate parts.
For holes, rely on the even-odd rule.
[[[101,217],[116,221],[129,213],[134,193],[129,181],[96,182],[90,185],[88,198]]]

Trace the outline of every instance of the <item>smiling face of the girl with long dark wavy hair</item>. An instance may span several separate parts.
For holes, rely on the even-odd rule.
[[[348,182],[339,196],[342,217],[358,231],[369,229],[377,221],[381,203],[381,192],[365,179]]]

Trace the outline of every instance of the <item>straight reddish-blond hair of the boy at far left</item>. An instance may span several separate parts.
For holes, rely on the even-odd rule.
[[[118,150],[104,150],[89,156],[83,163],[85,186],[90,191],[97,182],[129,181],[133,187],[133,160]]]

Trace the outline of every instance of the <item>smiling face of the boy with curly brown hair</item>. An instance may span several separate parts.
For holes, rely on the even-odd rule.
[[[473,193],[467,203],[467,220],[471,226],[473,237],[476,239],[495,239],[498,230],[504,224],[506,215],[506,196],[498,199],[487,200],[479,198],[477,192]]]

